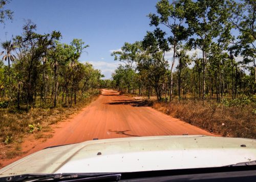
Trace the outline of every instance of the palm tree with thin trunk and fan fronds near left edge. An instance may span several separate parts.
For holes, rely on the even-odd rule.
[[[1,43],[1,47],[3,49],[5,49],[4,51],[2,51],[0,53],[0,56],[3,56],[2,60],[7,61],[8,59],[8,74],[9,74],[9,103],[8,103],[8,107],[10,106],[10,102],[11,102],[11,72],[10,72],[10,60],[14,61],[14,59],[16,59],[16,57],[14,55],[12,55],[12,52],[15,50],[14,45],[11,43],[11,41],[5,41]]]

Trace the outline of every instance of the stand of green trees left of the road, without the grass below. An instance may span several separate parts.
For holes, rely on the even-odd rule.
[[[60,38],[56,31],[37,34],[27,21],[22,35],[1,43],[0,108],[72,107],[97,91],[100,70],[78,61],[89,45],[81,39],[62,44]]]

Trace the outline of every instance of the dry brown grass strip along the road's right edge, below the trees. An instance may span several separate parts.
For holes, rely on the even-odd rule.
[[[215,104],[203,106],[201,101],[157,102],[153,108],[167,115],[179,118],[209,132],[228,137],[256,139],[255,103],[246,106],[226,107]]]

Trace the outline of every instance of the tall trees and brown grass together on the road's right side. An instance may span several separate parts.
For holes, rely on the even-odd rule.
[[[161,0],[143,40],[114,51],[109,88],[224,136],[256,138],[254,1]]]

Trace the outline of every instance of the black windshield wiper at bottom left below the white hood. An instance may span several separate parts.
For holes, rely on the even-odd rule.
[[[121,178],[121,174],[113,173],[62,173],[62,174],[22,174],[8,177],[1,177],[1,181],[69,181],[69,180],[106,180],[106,181],[118,181]]]

